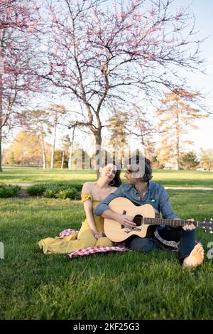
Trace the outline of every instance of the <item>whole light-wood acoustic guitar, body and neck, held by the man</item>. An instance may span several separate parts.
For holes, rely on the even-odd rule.
[[[206,232],[213,231],[213,221],[209,222],[205,220],[202,222],[196,222],[192,220],[174,220],[174,219],[162,219],[155,217],[155,210],[152,205],[145,204],[136,206],[131,203],[127,198],[119,197],[111,200],[109,203],[109,209],[119,215],[129,215],[133,217],[133,222],[136,223],[136,227],[132,229],[121,225],[116,220],[104,219],[104,232],[107,237],[113,242],[121,242],[131,237],[131,235],[138,235],[138,237],[150,237],[152,228],[155,225],[170,225],[173,227],[184,226],[194,224],[195,227],[202,227]],[[155,226],[156,227],[156,226]]]

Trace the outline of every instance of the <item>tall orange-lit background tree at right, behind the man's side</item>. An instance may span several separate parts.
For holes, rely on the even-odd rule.
[[[175,161],[176,170],[180,169],[183,144],[192,144],[192,141],[184,139],[184,134],[190,129],[198,129],[194,124],[196,119],[208,116],[207,112],[194,107],[199,97],[197,93],[185,90],[165,93],[165,99],[160,99],[164,107],[155,112],[163,138],[158,159],[161,163]]]

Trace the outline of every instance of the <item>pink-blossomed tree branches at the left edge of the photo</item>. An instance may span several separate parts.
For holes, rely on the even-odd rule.
[[[37,25],[38,6],[33,1],[0,0],[0,171],[2,129],[26,102],[24,94],[38,89],[31,72]]]

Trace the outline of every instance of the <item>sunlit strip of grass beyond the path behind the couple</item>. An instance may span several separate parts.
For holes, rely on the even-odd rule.
[[[124,179],[124,172],[121,173]],[[72,181],[84,183],[95,181],[96,171],[69,171],[68,169],[4,168],[0,173],[0,183],[47,183]],[[213,187],[213,173],[202,171],[164,171],[153,172],[153,181],[165,186]]]

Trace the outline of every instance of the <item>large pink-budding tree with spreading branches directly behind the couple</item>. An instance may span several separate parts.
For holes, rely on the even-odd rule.
[[[48,6],[41,77],[80,102],[86,126],[102,144],[104,111],[138,95],[187,87],[179,68],[199,69],[192,16],[174,0],[60,0]],[[108,5],[108,6],[107,6]],[[110,6],[110,8],[109,8]],[[187,87],[189,90],[189,87]]]

